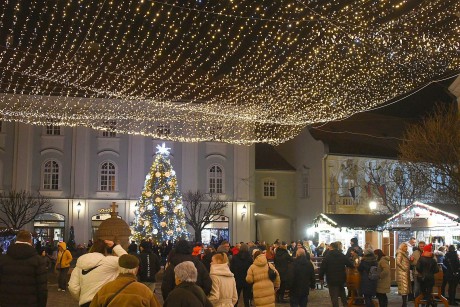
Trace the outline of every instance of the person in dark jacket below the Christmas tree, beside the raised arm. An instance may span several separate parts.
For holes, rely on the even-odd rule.
[[[161,269],[161,260],[157,254],[152,252],[148,241],[142,240],[139,254],[139,281],[155,292],[155,275]]]

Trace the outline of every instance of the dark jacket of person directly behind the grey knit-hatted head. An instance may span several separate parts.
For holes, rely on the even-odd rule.
[[[196,257],[192,256],[192,254],[175,254],[170,260],[171,265],[169,265],[165,270],[163,282],[161,283],[161,294],[163,295],[163,300],[166,300],[169,293],[176,286],[174,267],[184,261],[192,261],[195,264],[195,268],[198,271],[196,285],[201,287],[206,295],[209,295],[211,292],[212,280],[211,277],[209,277],[209,272],[206,271],[203,263],[201,263],[201,261]]]

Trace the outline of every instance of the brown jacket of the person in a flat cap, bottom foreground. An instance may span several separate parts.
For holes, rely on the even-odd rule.
[[[108,300],[121,290],[108,305]],[[155,294],[146,285],[137,282],[133,274],[120,274],[115,280],[104,285],[94,296],[90,307],[160,307]]]

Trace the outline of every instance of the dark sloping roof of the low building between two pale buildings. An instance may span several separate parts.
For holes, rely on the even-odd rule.
[[[272,145],[256,144],[256,170],[295,171]]]

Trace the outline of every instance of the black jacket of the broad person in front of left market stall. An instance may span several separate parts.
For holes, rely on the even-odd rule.
[[[329,251],[321,262],[319,269],[320,279],[326,275],[327,283],[331,286],[343,286],[347,280],[345,267],[354,268],[353,262],[341,251]]]

